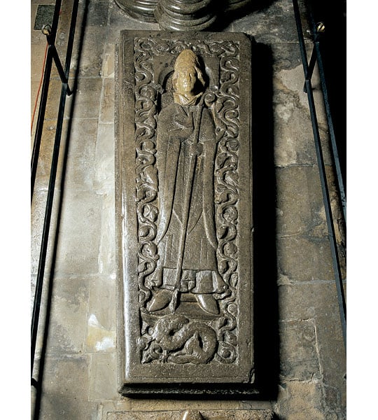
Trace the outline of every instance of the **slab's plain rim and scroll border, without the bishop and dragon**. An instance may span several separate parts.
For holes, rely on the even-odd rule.
[[[162,101],[161,83],[185,48],[193,49],[206,66],[209,90],[205,102],[218,117],[214,164],[218,257],[226,267],[223,278],[232,290],[229,302],[223,302],[224,323],[235,323],[231,333],[228,328],[219,337],[225,346],[235,347],[235,357],[218,356],[211,363],[183,367],[143,363],[140,343],[146,335],[142,313],[150,293],[145,280],[154,269],[157,252],[153,241],[156,186],[153,176],[148,176],[155,162],[155,122]],[[256,393],[250,41],[235,33],[122,31],[116,48],[115,122],[120,393]]]

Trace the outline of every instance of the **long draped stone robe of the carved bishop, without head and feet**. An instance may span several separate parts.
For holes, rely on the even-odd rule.
[[[172,104],[158,118],[156,163],[158,167],[159,260],[153,284],[173,290],[179,265],[179,243],[184,235],[181,292],[222,293],[227,287],[218,273],[214,221],[214,120],[202,105]],[[199,112],[201,111],[201,112]],[[200,118],[200,131],[195,127]],[[190,174],[190,152],[197,142],[194,174]],[[194,157],[192,159],[195,159]],[[191,178],[191,179],[189,179]],[[190,182],[188,227],[183,232],[186,185]]]

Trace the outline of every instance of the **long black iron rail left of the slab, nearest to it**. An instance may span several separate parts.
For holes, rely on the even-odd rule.
[[[73,38],[75,35],[77,14],[78,14],[78,0],[75,0],[73,3],[73,9],[72,9],[72,14],[71,14],[71,25],[70,25],[69,40],[67,43],[66,61],[65,61],[65,67],[64,67],[64,80],[67,80],[67,81],[66,83],[62,83],[62,89],[61,89],[61,94],[60,94],[59,111],[58,111],[58,116],[57,116],[57,130],[55,132],[54,149],[52,152],[50,180],[49,180],[49,185],[48,185],[48,197],[47,197],[46,207],[45,207],[45,218],[43,221],[41,251],[39,255],[38,274],[37,274],[37,279],[36,279],[36,292],[34,295],[34,307],[33,307],[32,319],[31,319],[31,376],[33,375],[33,368],[34,368],[36,337],[38,333],[38,321],[39,321],[39,315],[41,311],[41,297],[42,297],[42,291],[43,291],[43,276],[45,274],[45,262],[46,262],[47,248],[48,248],[48,237],[50,233],[52,204],[54,200],[54,190],[55,190],[55,180],[56,180],[56,174],[57,174],[57,164],[58,164],[58,159],[59,159],[60,140],[62,137],[64,108],[65,108],[66,97],[67,97],[67,92],[69,88],[68,87],[69,69],[71,66]]]

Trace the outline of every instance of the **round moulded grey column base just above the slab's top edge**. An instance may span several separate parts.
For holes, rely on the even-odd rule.
[[[203,31],[216,20],[214,0],[160,0],[155,18],[162,29]]]

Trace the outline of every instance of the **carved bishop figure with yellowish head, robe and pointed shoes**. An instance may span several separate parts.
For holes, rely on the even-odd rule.
[[[179,293],[193,293],[200,307],[218,314],[214,293],[227,285],[218,272],[214,221],[214,120],[203,104],[204,78],[192,50],[177,57],[174,104],[158,116],[158,290],[149,311],[175,311]]]

